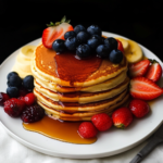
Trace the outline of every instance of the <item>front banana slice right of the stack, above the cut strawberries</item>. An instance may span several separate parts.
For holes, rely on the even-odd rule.
[[[124,54],[127,58],[128,63],[136,63],[142,60],[143,54],[139,45],[133,40],[128,41],[128,48],[125,50]]]

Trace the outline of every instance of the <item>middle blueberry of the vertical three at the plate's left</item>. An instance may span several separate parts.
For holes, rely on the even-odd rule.
[[[11,75],[8,80],[8,86],[9,87],[17,87],[17,88],[21,87],[22,78],[17,75]]]

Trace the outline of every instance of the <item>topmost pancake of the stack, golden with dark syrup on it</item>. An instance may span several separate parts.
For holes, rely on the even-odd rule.
[[[57,54],[55,51],[51,49],[47,49],[43,45],[39,45],[36,48],[35,55],[34,55],[34,66],[35,70],[37,71],[38,75],[40,78],[45,78],[46,80],[50,80],[52,83],[59,84],[61,86],[66,86],[66,87],[88,87],[88,86],[93,86],[96,84],[103,83],[110,78],[113,78],[121,74],[123,71],[127,70],[127,61],[126,58],[124,57],[123,61],[120,64],[113,64],[109,60],[104,59],[86,59],[86,60],[78,60],[75,59],[75,57],[72,54],[74,58],[73,62],[71,64],[71,61],[68,60],[68,54],[67,58],[66,55],[63,54]],[[63,61],[60,63],[57,62]],[[66,64],[71,65],[71,68],[66,67]],[[89,63],[95,66],[95,68],[89,67]],[[82,65],[80,73],[78,74],[71,74],[76,70],[77,65]],[[62,70],[63,67],[63,70]],[[72,78],[65,77],[65,76],[59,76],[60,72],[59,68],[62,71],[66,71],[66,73],[71,74],[71,76],[75,76],[75,80],[73,80],[72,84]],[[64,70],[65,68],[65,70]],[[91,70],[88,71],[87,70]],[[74,70],[74,71],[72,71]],[[85,74],[87,71],[88,74]],[[77,72],[78,70],[76,70]],[[83,73],[83,75],[80,75]],[[63,74],[63,73],[61,73]],[[87,76],[87,78],[83,78],[83,76]]]

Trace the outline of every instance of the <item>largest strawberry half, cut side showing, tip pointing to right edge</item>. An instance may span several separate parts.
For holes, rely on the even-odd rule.
[[[163,93],[163,89],[146,77],[135,77],[130,80],[130,95],[136,99],[152,100]]]

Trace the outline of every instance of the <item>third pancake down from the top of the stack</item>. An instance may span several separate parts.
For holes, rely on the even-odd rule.
[[[70,92],[70,93],[60,93],[43,88],[37,82],[35,82],[35,89],[42,93],[43,96],[52,99],[53,101],[61,101],[61,102],[78,102],[78,103],[89,103],[95,101],[101,101],[105,99],[113,98],[124,91],[129,83],[129,78],[127,77],[122,84],[116,86],[113,89],[105,90],[105,91],[98,91],[98,92]]]

